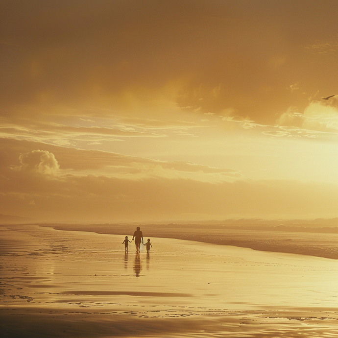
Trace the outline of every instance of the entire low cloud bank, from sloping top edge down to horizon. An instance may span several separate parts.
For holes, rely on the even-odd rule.
[[[0,185],[0,213],[58,221],[333,217],[338,201],[332,183],[10,139],[0,142]]]

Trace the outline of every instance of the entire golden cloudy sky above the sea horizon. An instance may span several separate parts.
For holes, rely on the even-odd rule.
[[[0,214],[338,217],[337,13],[336,0],[2,0]]]

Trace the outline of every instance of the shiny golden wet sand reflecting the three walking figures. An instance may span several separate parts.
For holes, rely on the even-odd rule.
[[[0,226],[3,337],[336,337],[338,261]]]

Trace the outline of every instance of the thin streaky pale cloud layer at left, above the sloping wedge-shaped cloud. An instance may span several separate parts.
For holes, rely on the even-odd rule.
[[[173,117],[175,116],[169,117],[170,120],[168,117],[155,120],[112,116],[89,120],[68,115],[44,117],[44,121],[38,121],[34,117],[31,119],[2,117],[0,118],[0,132],[3,137],[78,146],[83,143],[101,145],[104,142],[124,141],[129,138],[164,138],[170,133],[195,136],[193,133],[196,130],[206,127],[206,125],[198,125],[198,120],[191,116],[179,116],[179,120],[172,120]],[[188,121],[184,121],[184,118]],[[62,120],[63,123],[55,120]]]

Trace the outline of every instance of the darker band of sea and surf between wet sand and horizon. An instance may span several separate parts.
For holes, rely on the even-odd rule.
[[[132,236],[135,224],[38,224],[55,230],[93,232],[106,235]],[[291,253],[338,260],[338,234],[232,229],[206,226],[196,228],[177,225],[141,225],[145,238],[161,237],[199,241],[217,245],[231,245],[256,251]],[[146,241],[146,239],[145,239]]]

